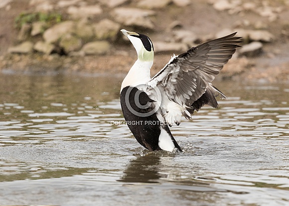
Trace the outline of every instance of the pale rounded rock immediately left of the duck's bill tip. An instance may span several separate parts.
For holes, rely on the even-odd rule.
[[[97,39],[115,40],[120,30],[120,24],[109,19],[103,19],[94,25],[95,36]]]

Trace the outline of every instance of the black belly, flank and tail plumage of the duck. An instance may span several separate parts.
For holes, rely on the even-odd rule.
[[[129,94],[127,94],[129,93]],[[138,95],[139,94],[139,95]],[[130,107],[128,108],[127,103],[125,102],[127,96],[128,103]],[[135,97],[137,97],[135,99]],[[145,148],[150,151],[162,150],[159,147],[159,136],[161,134],[161,128],[164,128],[168,134],[171,136],[172,141],[175,144],[175,147],[180,151],[182,149],[178,145],[177,141],[173,137],[169,127],[164,122],[161,122],[155,112],[151,115],[145,115],[146,113],[152,111],[153,104],[147,108],[140,108],[137,106],[137,102],[141,105],[151,104],[153,101],[148,97],[145,92],[139,91],[135,87],[125,87],[121,90],[120,93],[120,105],[124,119],[127,122],[128,128],[131,130],[132,134],[136,140]],[[133,111],[133,112],[132,112]],[[144,114],[136,115],[135,112]]]

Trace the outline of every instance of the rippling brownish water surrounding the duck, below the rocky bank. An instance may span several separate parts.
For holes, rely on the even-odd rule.
[[[289,85],[234,81],[148,152],[123,124],[123,76],[0,76],[0,205],[289,205]]]

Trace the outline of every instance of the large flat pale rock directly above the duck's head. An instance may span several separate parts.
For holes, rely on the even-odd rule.
[[[111,15],[116,21],[125,26],[137,26],[141,28],[153,29],[155,26],[150,18],[154,15],[155,11],[140,8],[115,8]]]

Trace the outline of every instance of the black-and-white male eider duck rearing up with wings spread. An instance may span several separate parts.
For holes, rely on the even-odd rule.
[[[215,99],[226,96],[211,82],[235,53],[235,33],[202,43],[172,57],[153,78],[154,46],[144,34],[122,29],[133,44],[137,60],[121,84],[120,104],[124,119],[136,140],[150,151],[182,151],[169,126],[179,125],[181,117],[191,119],[204,104],[214,108]]]

